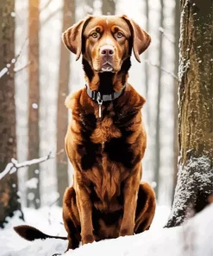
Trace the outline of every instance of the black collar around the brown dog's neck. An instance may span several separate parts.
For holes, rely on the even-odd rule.
[[[90,87],[85,85],[86,86],[86,92],[88,94],[88,96],[93,99],[93,100],[96,100],[98,104],[100,104],[99,102],[104,102],[104,101],[110,101],[110,100],[114,100],[114,99],[117,99],[118,97],[120,97],[126,87],[126,85],[124,85],[122,87],[122,91],[121,92],[114,92],[114,93],[111,93],[111,94],[101,94],[100,92],[98,91],[91,91]]]

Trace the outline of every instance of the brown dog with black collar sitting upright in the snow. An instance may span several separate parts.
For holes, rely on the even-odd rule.
[[[140,183],[147,146],[141,118],[145,99],[127,82],[132,49],[140,61],[151,40],[127,16],[88,16],[67,29],[63,41],[77,60],[83,55],[87,82],[66,99],[72,110],[66,152],[74,174],[63,218],[68,249],[74,249],[80,241],[141,233],[153,221],[153,189]],[[30,231],[39,238],[32,227],[16,227],[27,239]]]

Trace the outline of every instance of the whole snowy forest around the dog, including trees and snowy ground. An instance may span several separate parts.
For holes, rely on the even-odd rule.
[[[28,242],[13,227],[66,236],[63,195],[74,168],[65,100],[85,87],[85,74],[61,35],[87,15],[123,14],[152,39],[141,63],[131,57],[128,83],[146,99],[142,181],[157,208],[149,231],[65,255],[213,255],[212,0],[0,1],[0,255],[66,251],[66,240]]]

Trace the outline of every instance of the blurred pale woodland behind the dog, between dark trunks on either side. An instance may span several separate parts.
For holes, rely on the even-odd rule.
[[[3,9],[6,2],[10,5],[8,13]],[[0,87],[1,100],[11,110],[7,117],[10,135],[3,131],[0,120],[0,144],[5,149],[1,151],[0,173],[11,156],[22,163],[47,156],[50,151],[51,156],[56,155],[0,181],[1,186],[10,182],[22,207],[61,205],[63,193],[72,182],[72,166],[64,151],[69,118],[64,101],[68,93],[85,86],[85,80],[81,61],[76,62],[75,56],[66,50],[61,34],[87,14],[126,14],[152,37],[151,46],[141,56],[141,64],[132,57],[128,81],[147,99],[142,110],[147,130],[142,179],[152,183],[160,205],[172,205],[179,154],[179,8],[179,1],[175,0],[0,2],[0,10],[4,10],[1,16],[8,15],[10,22],[10,35],[2,38],[2,42],[9,42],[9,48],[5,48],[4,60],[1,58],[0,85],[3,86],[7,74],[15,85],[9,96],[1,93]],[[5,24],[1,24],[4,29]],[[1,111],[3,115],[3,108]],[[8,141],[13,144],[12,154],[7,150]]]

